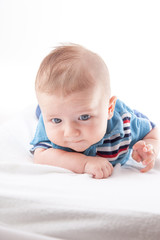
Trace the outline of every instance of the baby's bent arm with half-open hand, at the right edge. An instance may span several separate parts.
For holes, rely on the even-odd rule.
[[[158,128],[153,128],[143,140],[133,146],[132,157],[137,162],[142,162],[146,167],[141,172],[147,172],[154,167],[155,160],[160,150],[160,136]]]

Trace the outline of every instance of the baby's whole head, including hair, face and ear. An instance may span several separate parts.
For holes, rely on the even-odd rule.
[[[57,47],[42,61],[36,94],[49,140],[78,152],[103,138],[116,102],[104,61],[79,45]]]

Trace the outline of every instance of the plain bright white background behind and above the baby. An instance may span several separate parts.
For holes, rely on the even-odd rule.
[[[101,55],[112,94],[159,122],[159,32],[158,0],[0,0],[0,122],[36,107],[39,64],[63,42]]]

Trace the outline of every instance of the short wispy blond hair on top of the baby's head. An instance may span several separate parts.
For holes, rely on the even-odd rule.
[[[40,93],[61,91],[68,95],[100,81],[103,89],[107,87],[110,92],[109,73],[104,61],[96,53],[71,44],[55,48],[44,58],[36,76],[35,88]]]

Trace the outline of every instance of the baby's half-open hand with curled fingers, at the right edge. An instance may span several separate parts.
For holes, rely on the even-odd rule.
[[[137,162],[142,162],[146,167],[141,169],[141,172],[147,172],[154,167],[155,154],[153,146],[146,144],[145,141],[138,141],[133,146],[132,158]]]

